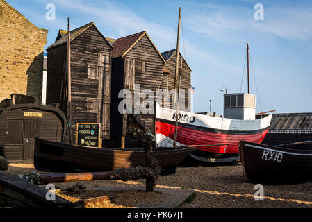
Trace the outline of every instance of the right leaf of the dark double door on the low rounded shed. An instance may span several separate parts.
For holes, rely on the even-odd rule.
[[[36,136],[40,137],[40,120],[24,120],[23,160],[33,160]]]

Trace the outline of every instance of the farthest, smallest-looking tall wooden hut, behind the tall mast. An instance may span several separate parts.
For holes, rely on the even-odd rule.
[[[170,51],[165,51],[161,53],[163,59],[165,60],[165,68],[168,70],[168,75],[163,80],[163,87],[166,88],[169,92],[174,89],[174,76],[176,70],[176,49],[172,49]],[[181,72],[181,61],[182,61],[182,72]],[[184,90],[184,107],[180,104],[180,110],[188,111],[191,110],[190,104],[190,75],[192,69],[190,69],[188,63],[183,58],[181,53],[179,53],[179,72],[181,72],[181,80],[180,80],[180,89]],[[170,108],[172,108],[172,97],[168,98],[170,102]]]

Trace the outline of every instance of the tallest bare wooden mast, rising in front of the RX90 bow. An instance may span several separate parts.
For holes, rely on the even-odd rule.
[[[181,7],[179,8],[179,24],[178,24],[178,35],[176,40],[176,73],[174,77],[174,105],[172,108],[176,108],[176,127],[174,129],[174,148],[176,148],[176,140],[178,136],[178,119],[179,119],[179,44],[180,44],[180,27],[181,27]]]

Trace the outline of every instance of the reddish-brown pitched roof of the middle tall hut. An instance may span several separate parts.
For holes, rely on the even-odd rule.
[[[157,53],[159,54],[159,56],[161,57],[161,59],[163,60],[163,62],[165,62],[165,60],[163,59],[163,56],[161,56],[161,53],[159,53],[158,49],[156,48],[156,46],[154,45],[154,43],[151,41],[149,35],[147,35],[146,31],[142,31],[140,33],[136,33],[133,35],[128,35],[126,37],[121,37],[119,39],[116,40],[116,42],[113,44],[113,51],[112,51],[112,57],[124,57],[126,56],[126,53],[128,53],[133,46],[144,36],[146,35],[147,38],[149,39],[149,41],[151,42],[151,44],[154,46],[154,48],[156,49]]]

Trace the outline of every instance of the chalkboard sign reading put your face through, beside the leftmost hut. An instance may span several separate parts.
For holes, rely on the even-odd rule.
[[[77,123],[76,144],[80,146],[101,147],[100,123]]]

